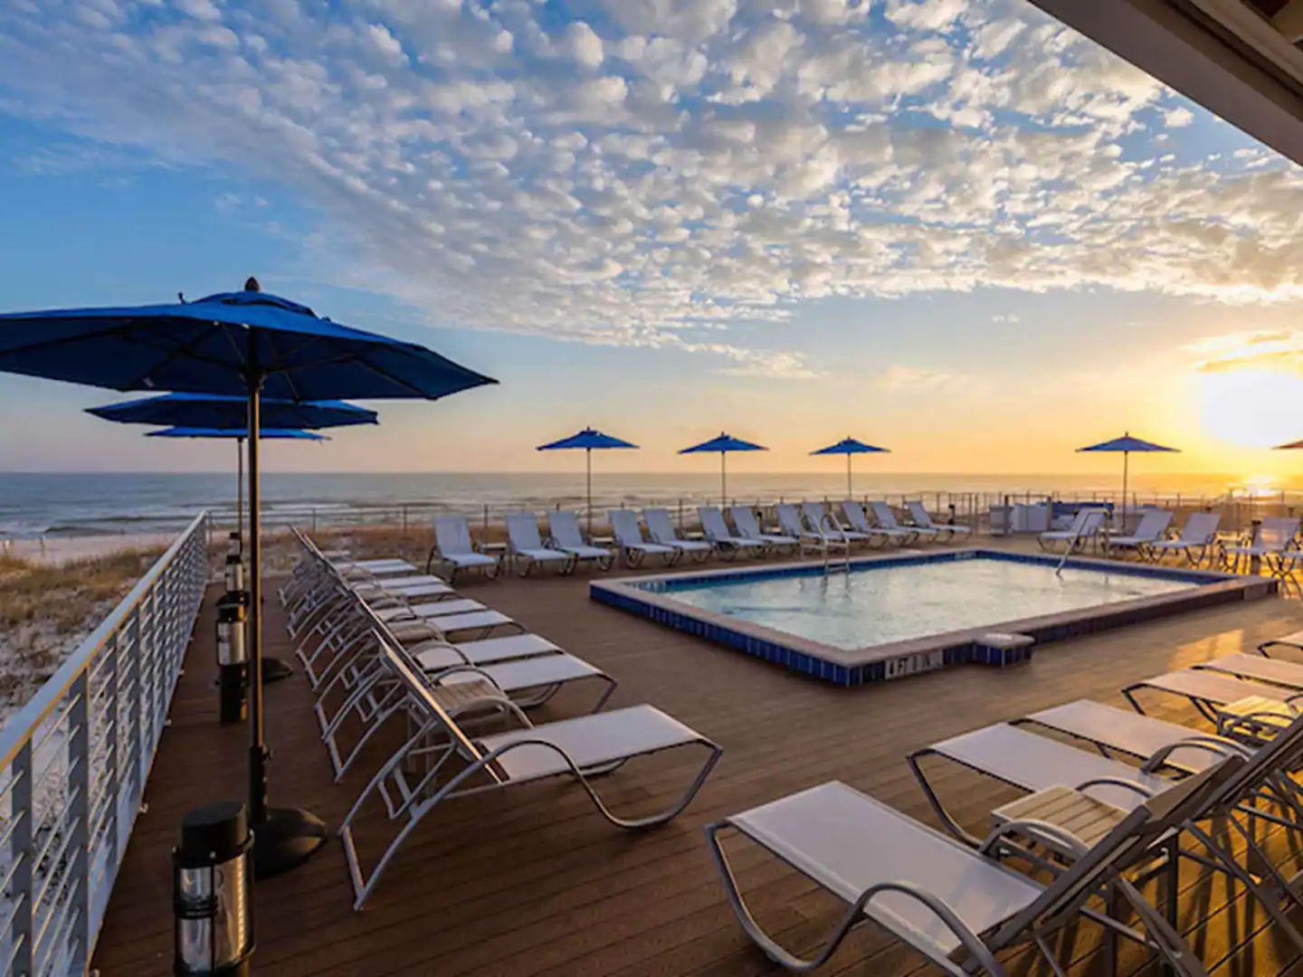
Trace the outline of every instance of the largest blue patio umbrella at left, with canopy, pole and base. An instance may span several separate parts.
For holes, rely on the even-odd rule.
[[[414,343],[319,318],[308,306],[262,293],[255,279],[244,292],[197,302],[0,315],[0,371],[119,391],[248,399],[254,871],[265,878],[301,864],[326,840],[324,825],[304,810],[272,809],[267,799],[258,518],[262,396],[437,400],[495,380]]]

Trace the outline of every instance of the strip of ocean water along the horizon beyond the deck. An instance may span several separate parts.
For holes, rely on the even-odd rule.
[[[1131,491],[1140,502],[1205,496],[1209,500],[1246,486],[1229,475],[1135,474]],[[516,474],[287,474],[263,475],[263,512],[268,521],[339,524],[397,518],[400,511],[423,521],[437,511],[481,516],[512,508],[584,508],[584,473]],[[857,472],[861,498],[923,498],[938,508],[954,496],[980,494],[981,504],[1003,494],[1065,498],[1118,492],[1110,475],[938,475]],[[1259,486],[1261,490],[1261,486]],[[1272,488],[1278,492],[1280,488]],[[718,502],[718,474],[594,474],[594,509],[618,505],[697,505]],[[844,472],[799,474],[736,473],[728,495],[736,502],[842,498]],[[0,535],[33,538],[159,533],[184,526],[199,509],[233,512],[236,477],[216,473],[0,473]]]

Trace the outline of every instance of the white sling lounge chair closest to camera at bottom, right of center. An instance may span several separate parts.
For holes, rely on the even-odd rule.
[[[1068,961],[1061,965],[1055,959],[1054,933],[1087,914],[1110,934],[1148,943],[1173,972],[1207,977],[1175,927],[1122,873],[1207,806],[1235,775],[1238,762],[1229,761],[1138,805],[1093,847],[1063,834],[1078,857],[1049,886],[990,857],[1001,851],[1006,834],[1025,827],[1018,822],[973,851],[837,780],[710,825],[706,839],[743,930],[766,956],[791,970],[821,967],[868,920],[950,977],[1003,977],[995,955],[1023,944],[1033,944],[1049,969],[1063,974]],[[848,907],[817,954],[799,957],[760,927],[723,851],[726,831],[745,836]],[[1131,905],[1143,934],[1087,909],[1091,895],[1108,885]],[[865,973],[872,972],[869,965]]]

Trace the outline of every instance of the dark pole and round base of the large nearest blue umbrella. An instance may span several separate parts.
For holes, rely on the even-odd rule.
[[[257,332],[249,330],[249,819],[254,828],[254,878],[271,878],[308,861],[326,842],[326,826],[296,808],[272,809],[267,799],[267,745],[262,689],[262,515],[258,485],[259,388]]]

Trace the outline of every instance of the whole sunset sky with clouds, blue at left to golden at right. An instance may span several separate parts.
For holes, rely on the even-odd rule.
[[[0,310],[263,288],[500,382],[289,470],[1285,474],[1303,173],[1023,0],[7,0]],[[0,375],[0,470],[219,469]]]

